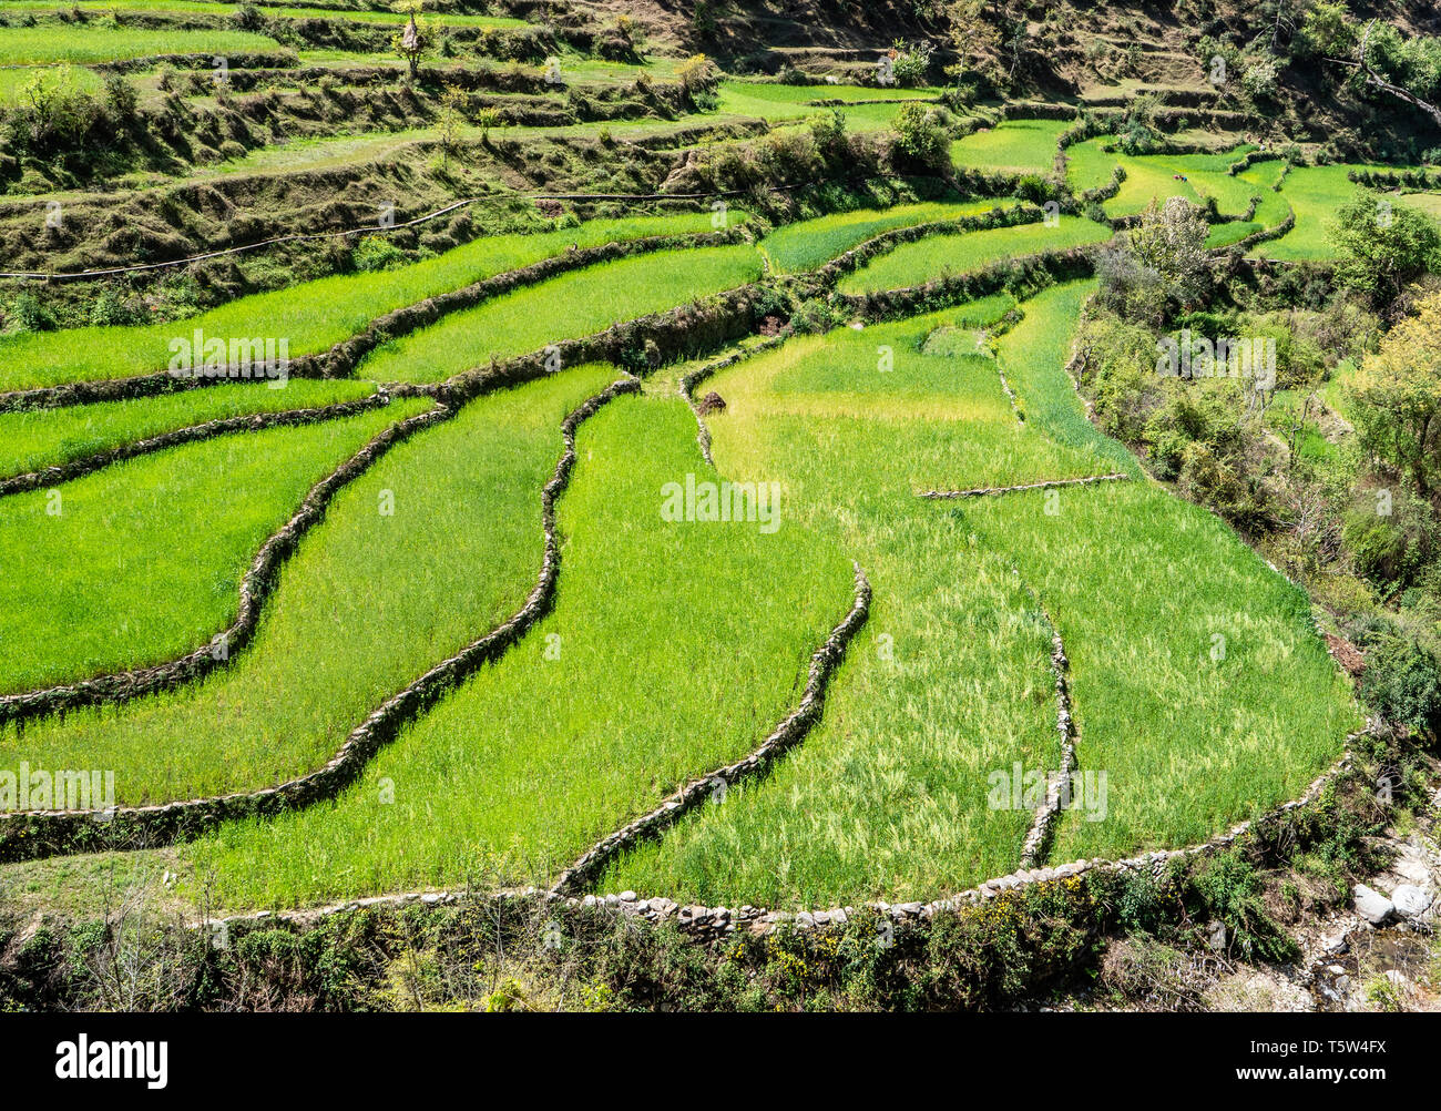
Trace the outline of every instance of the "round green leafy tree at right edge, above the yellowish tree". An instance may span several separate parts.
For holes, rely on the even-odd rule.
[[[1441,229],[1424,212],[1360,189],[1331,228],[1340,254],[1336,277],[1392,311],[1402,291],[1441,261]]]

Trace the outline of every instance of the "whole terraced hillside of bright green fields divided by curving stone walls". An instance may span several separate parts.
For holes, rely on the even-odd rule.
[[[474,202],[473,223],[396,235],[393,258],[391,229],[366,225],[342,245],[365,265],[248,295],[226,290],[255,288],[264,264],[192,261],[173,285],[203,294],[195,311],[127,275],[125,324],[58,327],[6,301],[0,768],[112,769],[128,840],[66,840],[61,807],[0,816],[0,886],[22,866],[59,882],[69,855],[105,849],[225,911],[558,883],[791,911],[927,901],[1023,862],[1203,840],[1340,755],[1359,716],[1306,595],[1087,418],[1066,365],[1094,281],[1017,275],[1061,255],[1068,277],[1091,272],[1118,218],[1169,196],[1215,202],[1212,248],[1294,213],[1249,249],[1324,259],[1352,167],[1231,174],[1252,147],[1125,156],[1098,137],[1046,186],[1065,215],[976,228],[1020,203],[1004,193],[1036,196],[1017,177],[1055,177],[1074,121],[954,127],[953,169],[986,171],[996,196],[944,173],[769,189],[755,166],[782,154],[746,146],[757,121],[804,147],[803,125],[839,107],[862,141],[940,89],[687,88],[684,55],[579,56],[584,36],[539,22],[437,19],[556,35],[546,52],[576,95],[493,39],[447,39],[427,65],[470,73],[467,118],[401,104],[392,128],[349,133],[316,108],[303,138],[231,140],[225,169],[187,170],[186,187],[226,215],[249,187],[293,203],[324,229],[317,252],[342,238],[316,215],[324,190],[357,180],[356,210],[415,186],[416,210]],[[0,62],[282,49],[98,14],[55,26],[7,26]],[[421,97],[392,56],[357,76],[366,59],[385,69],[324,45],[300,56],[336,88]],[[164,102],[147,65],[143,91]],[[535,115],[481,115],[500,110]],[[385,174],[346,177],[372,157]],[[566,184],[608,159],[631,161],[604,187]],[[757,180],[715,192],[754,215],[718,220],[709,192],[686,190],[732,163]],[[1079,195],[1117,167],[1098,212]],[[17,192],[39,189],[30,169]],[[133,173],[104,196],[148,203],[182,180]],[[873,208],[878,184],[898,203]],[[183,225],[167,197],[147,215]],[[938,284],[977,275],[967,300]],[[223,352],[208,380],[177,382],[192,337]],[[285,340],[284,388],[232,380],[239,337]],[[574,342],[585,360],[549,357]],[[1055,777],[1072,742],[1101,795],[1038,849],[1040,807],[997,801],[996,780]],[[656,814],[647,836],[608,840]]]

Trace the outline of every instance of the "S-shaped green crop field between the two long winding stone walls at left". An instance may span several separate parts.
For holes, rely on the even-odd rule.
[[[23,738],[0,731],[0,767],[114,768],[121,804],[318,767],[370,710],[520,608],[540,566],[540,487],[561,421],[612,378],[576,369],[481,398],[396,445],[307,533],[228,669],[32,722]]]

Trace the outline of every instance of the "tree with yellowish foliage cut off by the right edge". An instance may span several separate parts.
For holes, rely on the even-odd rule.
[[[1350,383],[1356,437],[1428,497],[1441,478],[1441,293],[1398,323]]]

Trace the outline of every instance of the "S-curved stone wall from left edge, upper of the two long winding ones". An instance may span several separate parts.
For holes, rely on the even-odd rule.
[[[324,517],[326,507],[336,493],[360,477],[396,444],[454,415],[454,409],[438,406],[393,424],[339,468],[316,483],[295,514],[255,555],[249,571],[241,581],[241,602],[235,621],[209,644],[196,648],[189,656],[154,667],[117,671],[81,683],[68,683],[23,695],[6,695],[0,697],[0,723],[24,722],[102,702],[128,702],[143,695],[154,695],[195,682],[223,666],[231,654],[249,644],[259,624],[265,599],[275,586],[281,563],[295,550],[301,537]],[[219,650],[222,646],[223,651]]]

